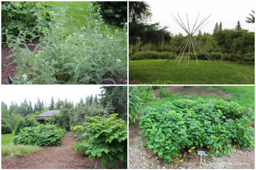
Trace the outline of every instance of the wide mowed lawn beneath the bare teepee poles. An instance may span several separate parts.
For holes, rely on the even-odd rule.
[[[254,84],[254,63],[235,63],[220,61],[180,62],[172,65],[172,60],[129,61],[129,84]]]

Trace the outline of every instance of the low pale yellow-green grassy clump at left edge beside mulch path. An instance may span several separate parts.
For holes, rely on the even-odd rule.
[[[14,145],[13,143],[10,144],[1,144],[1,156],[25,156],[34,152],[40,152],[42,148],[39,146],[33,145],[23,145],[17,144]]]

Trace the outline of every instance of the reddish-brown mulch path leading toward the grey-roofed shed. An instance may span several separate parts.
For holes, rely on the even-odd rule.
[[[43,146],[43,151],[23,157],[2,157],[2,169],[102,169],[100,159],[91,162],[87,156],[72,149],[76,143],[72,132],[62,137],[60,146]],[[121,168],[121,164],[117,164]]]

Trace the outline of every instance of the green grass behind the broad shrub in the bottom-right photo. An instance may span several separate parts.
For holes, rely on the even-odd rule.
[[[209,86],[207,86],[209,87]],[[202,87],[202,90],[207,87]],[[224,90],[227,93],[232,94],[233,96],[228,99],[228,101],[235,101],[239,103],[241,106],[245,107],[251,107],[254,111],[254,86],[216,86],[222,90]],[[178,99],[192,99],[196,100],[198,98],[203,98],[203,99],[212,99],[212,98],[219,98],[217,96],[191,96],[188,97],[185,94],[192,92],[192,90],[189,90],[188,92],[184,93],[177,93],[177,94],[172,94],[170,97],[166,97],[163,99],[158,99],[155,101],[151,101],[148,103],[145,103],[140,107],[139,113],[142,113],[142,110],[145,109],[146,107],[159,107],[162,104],[165,104],[167,101],[174,101]]]

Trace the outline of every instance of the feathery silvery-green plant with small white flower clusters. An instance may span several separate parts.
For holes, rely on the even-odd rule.
[[[55,15],[49,29],[31,39],[26,31],[20,31],[13,39],[5,31],[8,46],[16,57],[14,84],[100,84],[115,81],[104,76],[127,76],[127,24],[114,33],[103,26],[100,8],[85,16],[84,26],[71,35],[66,35],[65,10],[61,18]],[[38,23],[43,22],[38,20]],[[40,27],[40,24],[38,24]],[[39,37],[40,43],[30,51],[28,45]],[[24,43],[25,41],[30,43]],[[15,42],[15,43],[13,43]],[[23,47],[22,47],[22,46]],[[21,48],[22,47],[22,48]],[[12,56],[10,55],[10,56]],[[9,56],[9,57],[10,57]],[[23,76],[26,75],[26,81]],[[22,80],[22,81],[21,81]]]

